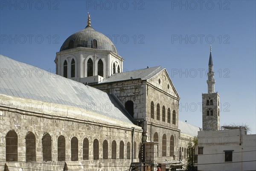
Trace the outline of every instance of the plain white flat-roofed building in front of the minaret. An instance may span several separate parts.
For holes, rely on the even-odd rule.
[[[256,135],[243,128],[200,131],[196,154],[198,171],[255,171]]]

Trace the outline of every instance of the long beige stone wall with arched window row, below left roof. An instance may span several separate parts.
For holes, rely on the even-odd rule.
[[[60,105],[62,107],[62,105]],[[72,108],[72,107],[70,107]],[[72,110],[72,109],[70,109]],[[61,115],[60,113],[58,113]],[[88,119],[88,118],[87,118]],[[111,119],[110,119],[111,120]],[[98,171],[99,169],[106,171],[126,170],[131,162],[139,162],[139,145],[142,140],[142,130],[134,125],[133,128],[129,124],[123,123],[123,126],[111,125],[88,121],[84,123],[79,119],[71,119],[50,115],[48,113],[39,113],[35,110],[17,109],[10,106],[0,106],[0,153],[1,163],[0,170],[4,169],[5,163],[9,166],[9,170],[13,170],[12,166],[20,166],[20,168],[28,168],[28,170],[63,170],[65,162],[58,162],[58,137],[65,137],[65,161],[67,168],[70,170]],[[127,126],[125,126],[127,125]],[[129,127],[129,126],[130,127]],[[6,158],[6,134],[14,130],[17,133],[18,161],[5,162]],[[26,162],[26,134],[32,132],[36,138],[36,162]],[[52,141],[52,161],[43,161],[42,137],[45,133],[51,136]],[[78,138],[78,161],[71,161],[71,139]],[[89,160],[83,160],[83,140],[89,140]],[[133,137],[133,140],[132,140]],[[99,160],[93,160],[93,140],[99,141]],[[108,141],[108,159],[103,159],[103,141]],[[111,159],[111,143],[116,141],[116,159]],[[119,159],[120,141],[124,142],[124,159]],[[127,159],[127,143],[137,144],[136,158]],[[132,146],[130,156],[132,157]],[[15,163],[15,164],[14,164]]]

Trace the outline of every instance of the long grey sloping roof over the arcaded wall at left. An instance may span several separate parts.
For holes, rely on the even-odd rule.
[[[0,94],[64,104],[131,123],[116,99],[101,90],[0,55]]]

